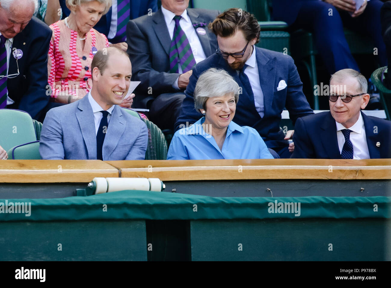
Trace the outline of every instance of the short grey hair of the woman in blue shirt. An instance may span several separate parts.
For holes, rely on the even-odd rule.
[[[195,85],[194,89],[194,108],[205,109],[206,100],[210,97],[223,96],[233,93],[235,103],[239,100],[239,85],[223,69],[209,68],[203,72]]]

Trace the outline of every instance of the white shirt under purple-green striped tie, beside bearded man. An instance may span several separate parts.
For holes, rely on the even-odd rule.
[[[175,20],[174,20],[175,14],[165,9],[163,6],[161,6],[161,12],[163,13],[164,20],[167,25],[167,29],[169,30],[170,39],[172,40],[172,36],[174,35],[174,28],[175,28]],[[206,59],[204,49],[201,46],[201,42],[199,41],[197,32],[195,32],[194,30],[192,21],[190,20],[190,17],[187,14],[187,10],[185,10],[181,14],[181,16],[182,18],[181,20],[179,20],[179,25],[181,26],[183,32],[185,32],[190,47],[192,48],[192,53],[194,56],[195,63],[199,63],[202,60]],[[179,67],[179,74],[182,74],[181,65],[178,65],[178,67]],[[176,82],[174,82],[172,87],[179,90],[178,79],[176,80]]]

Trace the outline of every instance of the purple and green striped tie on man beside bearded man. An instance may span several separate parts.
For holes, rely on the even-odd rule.
[[[179,64],[182,72],[186,73],[193,69],[195,63],[192,48],[187,40],[185,32],[179,25],[182,16],[175,16],[175,28],[170,45],[170,73],[179,73]]]

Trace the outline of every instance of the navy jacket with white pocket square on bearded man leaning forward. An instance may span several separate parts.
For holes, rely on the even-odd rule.
[[[240,126],[249,126],[258,131],[268,148],[282,149],[288,145],[284,140],[284,133],[280,129],[281,113],[284,107],[289,111],[289,117],[295,123],[296,119],[313,114],[310,105],[303,94],[303,83],[289,55],[255,47],[256,61],[258,63],[259,80],[264,94],[264,117],[258,114],[255,108],[254,97],[248,95],[246,89],[242,89],[233,121]],[[209,68],[226,70],[239,84],[244,87],[239,79],[238,72],[231,69],[226,60],[218,54],[213,54],[204,61],[198,63],[190,76],[186,88],[186,98],[182,103],[182,111],[175,124],[175,130],[186,122],[192,124],[202,117],[199,111],[194,109],[193,93],[199,75]],[[278,83],[284,80],[285,89],[277,91]]]

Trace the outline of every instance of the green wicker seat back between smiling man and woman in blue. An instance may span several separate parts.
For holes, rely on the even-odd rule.
[[[140,119],[140,115],[133,110],[123,109],[127,113]],[[141,118],[148,128],[148,145],[145,152],[145,160],[166,160],[167,159],[167,141],[163,132],[151,121]]]

